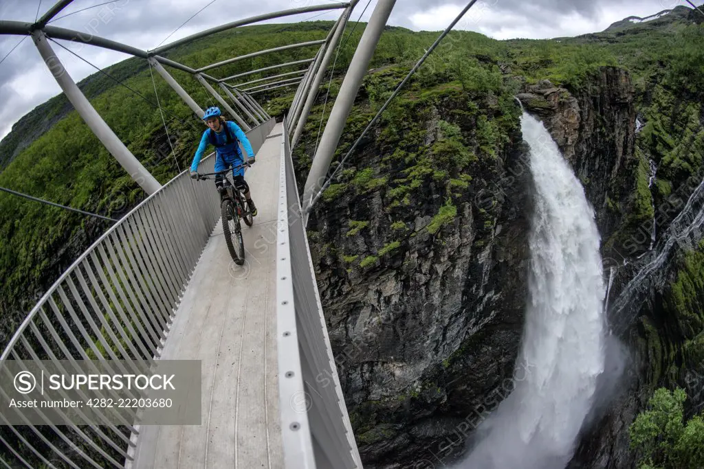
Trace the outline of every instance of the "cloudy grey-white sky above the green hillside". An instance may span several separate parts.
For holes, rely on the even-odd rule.
[[[149,50],[241,18],[329,3],[329,0],[116,0],[105,4],[106,1],[75,0],[50,24]],[[693,3],[700,5],[703,1],[695,0]],[[0,20],[34,23],[37,15],[41,16],[55,2],[56,0],[0,0]],[[99,6],[100,4],[105,5]],[[369,20],[376,4],[377,0],[371,0],[362,17],[363,21]],[[353,12],[353,20],[357,20],[366,5],[367,1],[360,0]],[[465,5],[464,0],[398,0],[389,24],[411,30],[440,31],[451,23]],[[630,15],[646,17],[677,5],[688,6],[684,0],[479,0],[455,29],[477,31],[495,39],[574,36],[604,30],[611,23]],[[75,13],[90,6],[95,8]],[[201,8],[204,8],[203,11],[172,34]],[[322,14],[307,13],[275,22],[334,20],[339,13],[337,10]],[[0,60],[22,39],[18,36],[0,35]],[[128,57],[93,46],[61,42],[101,68]],[[96,71],[56,45],[54,51],[76,82]],[[32,39],[24,37],[19,46],[0,63],[0,139],[8,134],[20,117],[59,93],[61,89],[44,67]]]

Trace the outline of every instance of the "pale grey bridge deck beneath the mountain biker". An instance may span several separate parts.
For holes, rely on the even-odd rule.
[[[281,133],[277,124],[246,173],[258,209],[251,228],[242,224],[247,262],[232,262],[218,222],[165,343],[163,359],[202,361],[202,424],[143,426],[133,468],[283,466],[275,309]]]

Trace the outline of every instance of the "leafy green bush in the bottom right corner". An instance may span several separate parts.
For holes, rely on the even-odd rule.
[[[655,391],[629,427],[631,448],[641,454],[639,469],[689,469],[704,465],[704,415],[684,421],[684,390]]]

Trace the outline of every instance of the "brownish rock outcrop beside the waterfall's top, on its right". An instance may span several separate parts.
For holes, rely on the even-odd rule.
[[[543,80],[524,86],[517,97],[545,124],[582,181],[596,211],[605,257],[614,257],[609,248],[618,241],[610,238],[627,224],[639,165],[634,156],[636,111],[629,75],[620,68],[603,67],[579,89],[558,88]]]

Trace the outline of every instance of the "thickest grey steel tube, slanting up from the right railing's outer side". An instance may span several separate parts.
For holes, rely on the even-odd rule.
[[[337,148],[337,143],[339,143],[362,78],[367,72],[367,67],[370,60],[372,60],[379,37],[384,31],[386,21],[391,15],[394,4],[396,4],[396,0],[379,0],[379,3],[377,3],[340,86],[340,91],[330,111],[325,131],[323,131],[320,138],[320,145],[313,157],[313,165],[310,167],[306,185],[303,189],[302,202],[303,210],[306,212],[306,222],[308,221],[307,212],[310,201],[324,184],[325,174],[327,174],[327,169],[330,166],[330,162],[332,162],[332,156],[335,153],[335,148]]]

